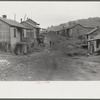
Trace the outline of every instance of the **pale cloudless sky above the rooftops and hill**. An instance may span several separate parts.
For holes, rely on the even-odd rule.
[[[22,18],[31,18],[47,28],[68,21],[100,17],[100,2],[75,1],[0,1],[0,17],[7,15],[8,19],[20,22]]]

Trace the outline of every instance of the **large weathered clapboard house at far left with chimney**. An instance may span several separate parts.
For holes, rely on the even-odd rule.
[[[27,52],[26,31],[30,30],[17,21],[7,19],[6,15],[0,17],[0,49],[14,52],[17,44],[22,44],[20,53]]]

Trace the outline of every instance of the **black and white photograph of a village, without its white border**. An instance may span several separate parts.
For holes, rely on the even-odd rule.
[[[100,2],[0,1],[0,81],[100,81]]]

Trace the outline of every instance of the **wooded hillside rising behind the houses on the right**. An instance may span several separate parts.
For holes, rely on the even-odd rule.
[[[47,30],[48,31],[57,31],[57,30],[60,30],[64,27],[68,27],[69,25],[72,25],[73,23],[77,23],[77,22],[84,25],[84,26],[97,27],[97,26],[100,26],[100,17],[94,17],[94,18],[88,18],[88,19],[78,19],[78,20],[75,20],[75,21],[62,23],[58,26],[48,27]]]

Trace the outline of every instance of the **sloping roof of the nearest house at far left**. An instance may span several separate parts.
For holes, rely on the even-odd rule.
[[[10,25],[10,26],[28,29],[28,28],[25,27],[24,25],[18,23],[17,21],[11,20],[11,19],[6,19],[6,18],[0,17],[0,20],[2,20],[3,22],[7,23],[7,24]]]

